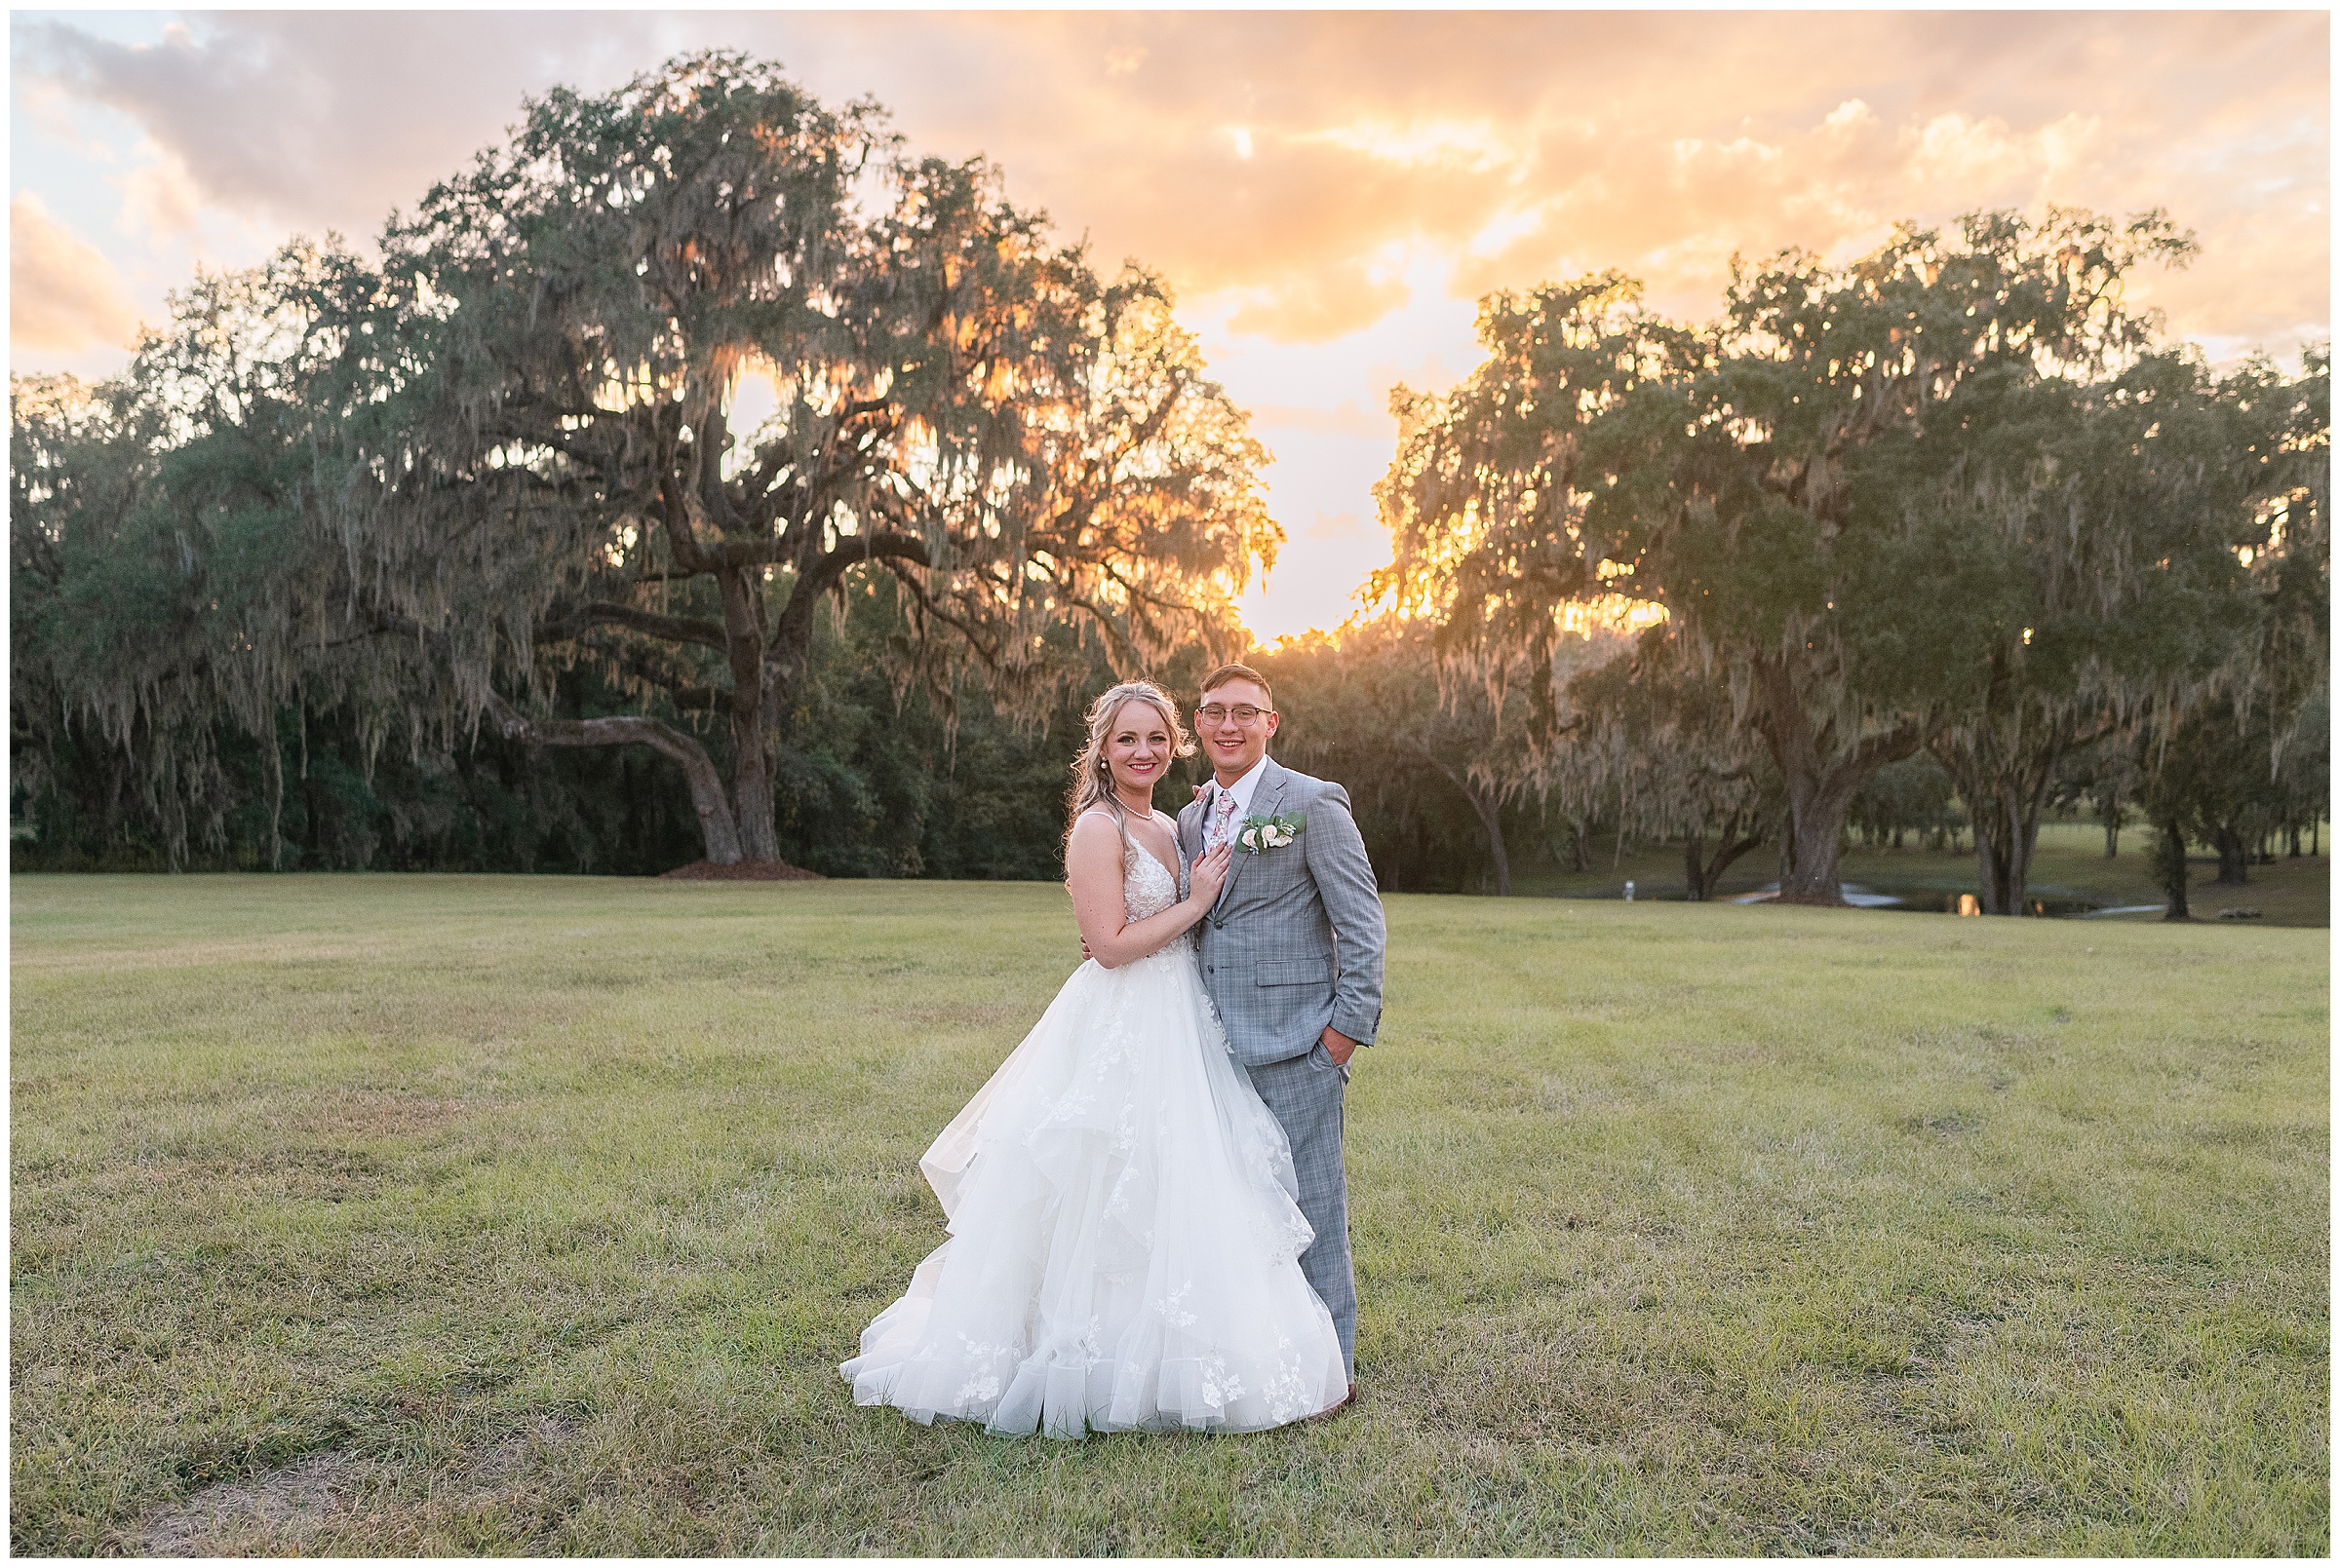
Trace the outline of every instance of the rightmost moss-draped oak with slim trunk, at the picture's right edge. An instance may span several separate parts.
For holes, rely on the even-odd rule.
[[[2317,398],[2263,360],[2214,379],[2183,351],[2003,396],[2010,407],[1975,421],[1980,438],[1954,433],[1945,463],[1942,494],[1984,545],[1968,559],[1991,569],[1961,587],[1991,615],[1968,632],[1987,653],[1980,681],[1954,693],[1930,747],[1975,826],[1984,913],[2012,915],[2064,758],[2253,679],[2270,604],[2246,562],[2267,559],[2286,510],[2300,524],[2314,510],[2307,452],[2286,447]],[[2286,648],[2272,665],[2312,672],[2321,658]],[[2303,686],[2286,690],[2289,716]]]

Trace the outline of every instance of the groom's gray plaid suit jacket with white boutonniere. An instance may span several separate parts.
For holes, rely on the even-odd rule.
[[[1327,1023],[1364,1046],[1381,1027],[1381,894],[1348,791],[1268,758],[1250,814],[1289,812],[1306,831],[1280,850],[1238,847],[1196,927],[1203,985],[1247,1067],[1306,1055]],[[1177,847],[1189,864],[1203,852],[1200,800],[1179,812]]]

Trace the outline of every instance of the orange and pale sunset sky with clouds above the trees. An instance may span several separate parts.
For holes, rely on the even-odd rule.
[[[2331,321],[2328,16],[2284,12],[16,12],[9,360],[105,374],[197,262],[370,239],[552,84],[732,44],[1137,257],[1275,452],[1273,639],[1388,559],[1392,384],[1479,295],[1622,267],[1713,311],[1729,255],[1977,206],[2169,208],[2139,290],[2214,360]]]

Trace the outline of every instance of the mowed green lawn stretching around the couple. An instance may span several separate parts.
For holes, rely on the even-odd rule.
[[[2324,1554],[2326,934],[1392,899],[1360,1402],[835,1362],[1046,885],[14,878],[16,1552]]]

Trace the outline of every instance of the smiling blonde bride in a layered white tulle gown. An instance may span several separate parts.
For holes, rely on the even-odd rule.
[[[1348,1395],[1285,1130],[1196,971],[1228,850],[1182,896],[1154,810],[1191,754],[1151,681],[1088,709],[1065,871],[1095,957],[920,1158],[950,1240],[863,1329],[854,1402],[1079,1437],[1257,1432]]]

